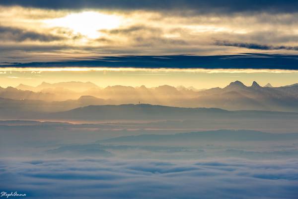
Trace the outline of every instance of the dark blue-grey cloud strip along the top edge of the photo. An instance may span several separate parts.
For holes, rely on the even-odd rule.
[[[236,13],[236,12],[297,12],[297,0],[1,0],[1,5],[21,5],[52,9],[109,8],[109,9],[176,9],[194,10],[198,13]]]

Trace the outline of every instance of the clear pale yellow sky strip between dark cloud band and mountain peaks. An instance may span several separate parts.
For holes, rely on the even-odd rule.
[[[10,69],[9,69],[10,70]],[[243,70],[243,71],[214,71],[214,70],[163,70],[163,69],[50,69],[36,70],[36,68],[23,69],[28,71],[3,71],[0,73],[0,87],[16,87],[19,84],[38,86],[42,82],[92,82],[101,88],[107,86],[123,85],[148,88],[161,85],[194,87],[196,89],[210,89],[226,87],[230,82],[241,81],[251,86],[253,81],[261,86],[270,83],[273,87],[292,85],[297,83],[298,72],[272,71],[272,70]],[[46,71],[43,71],[46,70]],[[66,71],[63,71],[66,70]],[[77,70],[77,69],[75,69]]]

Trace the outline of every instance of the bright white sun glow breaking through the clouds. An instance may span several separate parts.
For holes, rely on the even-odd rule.
[[[94,39],[100,36],[99,30],[120,26],[121,17],[95,11],[84,11],[72,13],[62,18],[44,20],[44,22],[52,27],[70,28],[76,34]]]

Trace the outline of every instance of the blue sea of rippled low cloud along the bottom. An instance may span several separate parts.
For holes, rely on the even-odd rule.
[[[294,199],[297,168],[298,160],[2,159],[0,185],[36,199]]]

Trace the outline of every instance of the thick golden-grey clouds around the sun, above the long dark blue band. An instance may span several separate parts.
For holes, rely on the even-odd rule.
[[[0,60],[24,63],[27,60],[68,60],[74,56],[88,57],[87,54],[228,55],[263,53],[263,50],[269,54],[297,54],[297,3],[280,0],[257,3],[249,0],[241,3],[234,0],[2,0],[0,5],[7,6],[0,6],[3,26],[0,27]],[[65,8],[67,10],[62,10]],[[78,23],[77,28],[68,27],[68,17],[86,11],[81,8],[114,13],[123,24],[113,29],[100,26],[92,29],[92,24],[89,27],[86,23],[85,27],[84,22]],[[93,23],[91,19],[87,21]],[[100,17],[94,19],[94,27],[99,22]],[[88,29],[90,32],[85,31]],[[11,54],[24,59],[10,59]]]

